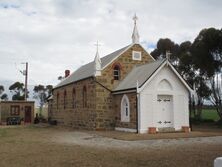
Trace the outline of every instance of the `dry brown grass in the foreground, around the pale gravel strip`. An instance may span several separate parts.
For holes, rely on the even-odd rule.
[[[213,160],[222,155],[222,145],[217,143],[141,150],[100,149],[52,140],[54,136],[60,135],[60,132],[71,131],[34,126],[0,128],[0,166],[207,167],[212,166]]]

